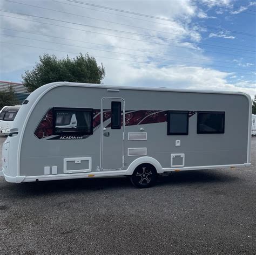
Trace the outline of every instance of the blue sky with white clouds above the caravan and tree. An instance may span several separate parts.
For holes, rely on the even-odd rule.
[[[81,52],[105,85],[256,94],[256,1],[0,0],[0,27],[0,80]]]

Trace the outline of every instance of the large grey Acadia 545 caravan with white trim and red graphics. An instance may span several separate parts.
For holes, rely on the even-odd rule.
[[[129,176],[146,188],[172,171],[249,167],[251,108],[240,92],[54,82],[23,102],[0,173],[16,183]]]

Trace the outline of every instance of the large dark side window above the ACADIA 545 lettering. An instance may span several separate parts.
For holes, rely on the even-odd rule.
[[[92,130],[92,109],[53,108],[53,134],[90,135]]]

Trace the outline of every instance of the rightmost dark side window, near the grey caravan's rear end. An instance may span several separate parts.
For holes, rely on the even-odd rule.
[[[224,134],[225,112],[198,112],[198,134]]]

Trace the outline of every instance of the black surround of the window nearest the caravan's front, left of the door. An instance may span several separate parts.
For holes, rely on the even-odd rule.
[[[86,128],[86,130],[78,130],[75,128],[74,130],[61,130],[61,128],[56,128],[56,114],[58,112],[69,113],[69,112],[87,112],[90,113],[90,127]],[[53,107],[52,108],[52,118],[53,118],[53,127],[52,133],[53,135],[92,135],[93,134],[93,109],[92,108],[68,108],[68,107]],[[60,129],[60,130],[58,130]]]

